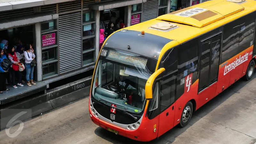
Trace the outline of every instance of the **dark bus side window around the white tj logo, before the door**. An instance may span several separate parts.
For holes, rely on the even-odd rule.
[[[178,49],[178,77],[176,99],[184,93],[184,84],[180,83],[181,79],[193,73],[192,84],[197,79],[198,67],[198,39],[192,39],[177,47]]]

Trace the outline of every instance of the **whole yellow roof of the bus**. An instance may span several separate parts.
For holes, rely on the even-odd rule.
[[[185,12],[189,9],[195,9],[195,8],[206,9],[206,10],[189,17],[176,15],[176,14]],[[182,9],[180,11],[175,11],[172,13],[159,16],[156,19],[148,20],[148,21],[127,27],[126,29],[135,30],[135,31],[143,30],[145,32],[145,35],[147,35],[147,33],[150,33],[153,35],[162,36],[168,39],[175,40],[179,44],[181,44],[185,41],[188,41],[189,39],[202,35],[212,29],[220,27],[232,20],[242,17],[255,10],[256,10],[255,0],[246,0],[241,4],[228,2],[226,0],[211,0],[211,1],[204,2],[202,4],[197,4],[197,5]],[[212,15],[213,13],[215,14],[212,17],[208,17],[205,19],[201,17],[197,17],[197,19],[203,19],[201,21],[195,19],[196,15],[200,15],[201,13],[204,13],[207,11],[210,11],[208,12],[208,14],[209,13]],[[177,25],[178,27],[166,32],[150,28],[152,25],[155,25],[163,21],[168,21],[172,24]],[[165,52],[166,50],[162,50],[161,53],[163,51]]]

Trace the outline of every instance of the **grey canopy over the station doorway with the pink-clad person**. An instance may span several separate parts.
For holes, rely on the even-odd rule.
[[[117,7],[128,6],[132,4],[141,4],[142,2],[147,2],[147,0],[114,0],[114,1],[91,4],[89,5],[89,8],[93,10],[102,11],[102,10],[108,10],[108,9],[113,9]]]

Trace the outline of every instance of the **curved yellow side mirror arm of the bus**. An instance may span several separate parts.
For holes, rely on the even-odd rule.
[[[159,68],[156,72],[154,72],[149,78],[145,86],[145,97],[146,100],[152,100],[153,98],[153,84],[157,76],[159,76],[162,72],[165,71],[165,68]]]

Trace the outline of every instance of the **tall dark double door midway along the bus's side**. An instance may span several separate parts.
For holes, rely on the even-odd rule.
[[[221,33],[201,41],[199,107],[215,97],[220,61]]]

